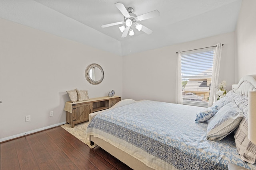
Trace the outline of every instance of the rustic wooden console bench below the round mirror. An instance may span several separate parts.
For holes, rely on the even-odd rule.
[[[93,98],[82,102],[66,102],[66,124],[74,127],[76,124],[88,121],[92,112],[108,109],[121,100],[119,96]]]

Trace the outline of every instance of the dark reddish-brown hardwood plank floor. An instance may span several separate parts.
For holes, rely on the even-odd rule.
[[[0,170],[130,170],[100,147],[90,149],[62,127],[0,144]]]

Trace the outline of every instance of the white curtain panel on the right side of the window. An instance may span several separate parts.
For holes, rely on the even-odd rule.
[[[211,83],[211,90],[210,90],[210,98],[208,106],[212,106],[215,102],[216,90],[218,87],[218,78],[219,78],[219,71],[220,71],[220,58],[221,58],[221,51],[222,51],[222,43],[218,43],[215,49],[215,57],[213,59],[213,68],[212,68],[212,83]]]

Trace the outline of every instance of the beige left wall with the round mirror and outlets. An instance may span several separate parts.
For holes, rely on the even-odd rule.
[[[3,19],[0,30],[0,140],[65,122],[66,90],[122,96],[122,57]],[[98,85],[85,79],[91,63],[105,72]]]

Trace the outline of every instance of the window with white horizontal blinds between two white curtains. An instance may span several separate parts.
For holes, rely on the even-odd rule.
[[[215,49],[180,53],[183,104],[208,107]]]

